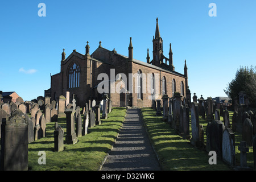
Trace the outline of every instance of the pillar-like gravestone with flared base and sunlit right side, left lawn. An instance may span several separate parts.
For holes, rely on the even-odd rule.
[[[76,132],[75,132],[75,113],[76,110],[66,109],[66,123],[67,123],[67,135],[65,138],[65,143],[67,144],[75,144],[77,142]]]

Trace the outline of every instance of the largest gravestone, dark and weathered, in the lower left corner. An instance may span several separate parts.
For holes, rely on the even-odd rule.
[[[1,170],[27,171],[28,123],[18,114],[2,120]]]

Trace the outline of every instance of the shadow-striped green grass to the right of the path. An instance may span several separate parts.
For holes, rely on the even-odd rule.
[[[182,139],[177,135],[176,130],[172,129],[169,124],[162,121],[162,117],[155,116],[156,111],[151,108],[142,108],[143,121],[150,135],[152,144],[158,154],[163,170],[206,170],[206,171],[226,171],[231,170],[228,165],[217,158],[216,165],[210,165],[208,160],[210,156],[204,149],[193,147],[189,140]],[[232,115],[230,112],[230,120],[232,123]],[[200,124],[206,131],[207,122],[200,119]],[[223,121],[223,118],[221,118]],[[191,132],[191,130],[190,130]],[[206,135],[204,142],[206,143]],[[236,140],[236,163],[240,164],[240,151],[238,146],[241,141],[241,134],[235,133]],[[247,166],[253,167],[253,149],[249,147],[247,155]]]

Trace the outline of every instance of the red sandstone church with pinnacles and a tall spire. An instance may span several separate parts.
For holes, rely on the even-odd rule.
[[[62,95],[70,97],[71,101],[75,94],[77,105],[85,106],[88,100],[102,99],[104,93],[98,92],[98,89],[99,85],[105,82],[103,87],[104,89],[109,87],[108,90],[111,84],[118,85],[114,93],[108,93],[113,106],[150,107],[153,100],[161,99],[164,94],[172,97],[174,92],[179,92],[183,98],[190,99],[186,61],[184,73],[178,73],[175,72],[172,60],[171,44],[168,57],[163,55],[163,39],[159,32],[158,18],[156,18],[156,30],[152,42],[152,60],[147,49],[146,62],[133,58],[131,38],[128,57],[118,54],[115,50],[103,48],[101,42],[92,54],[87,42],[85,54],[73,50],[67,59],[63,49],[60,73],[51,75],[48,96],[57,101]],[[113,79],[111,75],[113,73],[110,71],[115,73]],[[101,73],[105,73],[109,80],[98,80]],[[121,74],[118,76],[119,73],[126,75],[126,79],[123,79]],[[132,76],[129,76],[129,73]]]

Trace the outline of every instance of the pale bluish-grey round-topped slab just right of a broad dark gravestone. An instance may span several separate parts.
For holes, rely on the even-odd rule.
[[[222,160],[229,166],[236,166],[234,133],[230,128],[226,128],[222,134]]]

